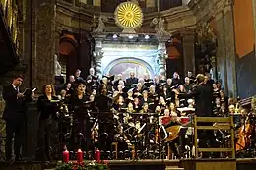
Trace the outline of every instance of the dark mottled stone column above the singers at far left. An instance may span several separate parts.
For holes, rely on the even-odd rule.
[[[32,85],[54,83],[55,0],[37,0],[34,4]]]

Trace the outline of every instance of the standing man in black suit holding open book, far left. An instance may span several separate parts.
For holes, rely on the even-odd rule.
[[[20,159],[20,148],[22,141],[22,133],[24,129],[25,112],[27,110],[27,102],[32,100],[31,96],[25,96],[20,92],[20,85],[23,83],[21,75],[13,78],[12,85],[3,87],[3,99],[6,102],[3,119],[6,122],[6,160],[12,160],[12,141],[14,138],[15,159]]]

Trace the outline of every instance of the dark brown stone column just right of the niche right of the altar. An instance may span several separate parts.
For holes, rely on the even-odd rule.
[[[183,34],[183,65],[184,75],[187,75],[188,71],[195,74],[195,35],[192,32],[185,32]]]

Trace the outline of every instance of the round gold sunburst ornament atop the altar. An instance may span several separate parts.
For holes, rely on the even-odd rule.
[[[139,5],[123,2],[115,9],[115,22],[121,28],[139,28],[142,25],[143,13]]]

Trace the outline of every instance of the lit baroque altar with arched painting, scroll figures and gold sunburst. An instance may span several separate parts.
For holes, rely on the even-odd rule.
[[[145,74],[151,78],[166,75],[165,43],[170,33],[164,30],[164,20],[160,17],[151,23],[155,33],[137,33],[135,28],[142,25],[142,18],[140,7],[132,2],[121,3],[116,8],[115,23],[123,28],[121,32],[107,32],[109,19],[99,17],[98,27],[92,33],[96,42],[92,65],[97,75],[122,74],[123,79],[131,71],[138,78]]]

